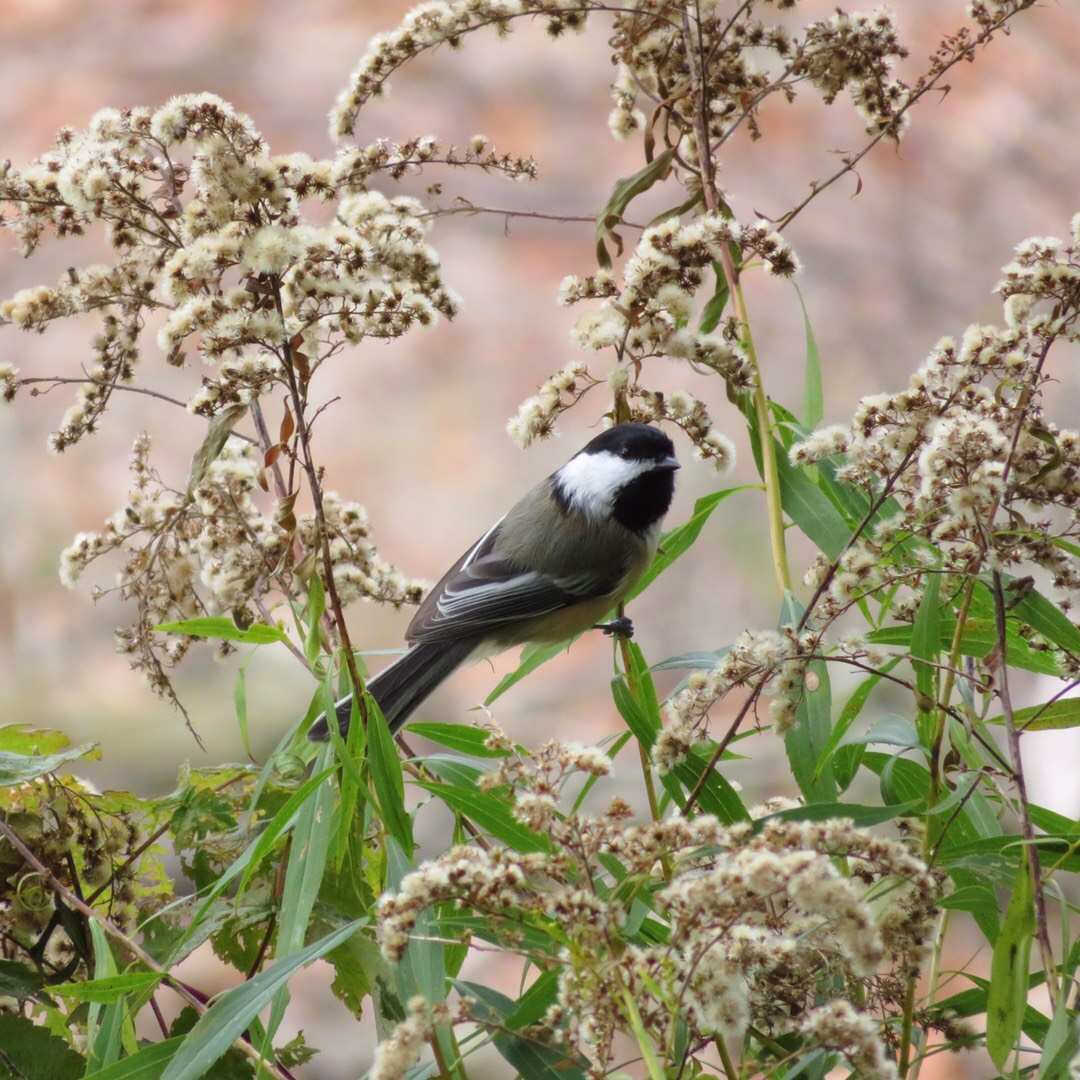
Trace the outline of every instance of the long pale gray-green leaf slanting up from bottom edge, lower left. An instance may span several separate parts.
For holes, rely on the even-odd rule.
[[[349,922],[246,983],[226,990],[199,1018],[161,1074],[161,1080],[200,1080],[297,971],[337,948],[363,923],[363,919]]]

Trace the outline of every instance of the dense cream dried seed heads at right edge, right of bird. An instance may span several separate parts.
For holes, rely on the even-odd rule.
[[[1080,597],[1070,551],[1080,537],[1080,433],[1043,413],[1047,354],[1080,337],[1080,240],[1024,241],[997,291],[1004,325],[942,339],[905,390],[863,399],[850,424],[793,448],[793,461],[835,458],[839,477],[893,500],[843,553],[825,613],[886,589],[917,590],[927,572],[1038,568],[1066,609]],[[818,580],[827,572],[819,568]],[[917,593],[907,599],[910,610]]]

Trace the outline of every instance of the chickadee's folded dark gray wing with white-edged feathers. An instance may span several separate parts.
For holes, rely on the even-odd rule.
[[[552,577],[524,570],[494,549],[498,525],[450,568],[409,623],[409,643],[483,637],[508,622],[532,619],[613,591],[619,573]]]

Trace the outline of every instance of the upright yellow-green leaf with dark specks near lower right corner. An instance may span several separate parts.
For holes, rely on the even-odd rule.
[[[986,996],[986,1049],[999,1069],[1016,1045],[1027,1005],[1027,969],[1035,936],[1035,897],[1027,859],[1016,868],[1009,907],[994,945]]]

